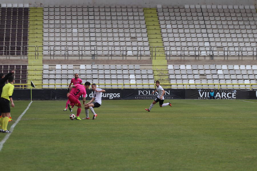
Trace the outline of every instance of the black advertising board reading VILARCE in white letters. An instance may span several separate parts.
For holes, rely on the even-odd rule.
[[[248,90],[213,89],[216,99],[248,99]],[[210,89],[186,89],[186,99],[208,99]]]

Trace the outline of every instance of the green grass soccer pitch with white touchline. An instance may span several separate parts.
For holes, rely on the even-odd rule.
[[[256,102],[171,100],[147,112],[152,100],[105,100],[95,120],[89,110],[91,119],[79,121],[63,111],[66,101],[33,101],[1,159],[19,171],[256,170]],[[8,129],[30,101],[14,103]]]

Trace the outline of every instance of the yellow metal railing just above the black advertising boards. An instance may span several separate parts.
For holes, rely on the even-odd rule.
[[[13,84],[14,86],[22,86],[22,87],[15,87],[15,89],[27,89],[27,86],[30,86],[31,84]],[[54,85],[54,87],[43,87],[46,85]],[[67,85],[67,87],[58,87],[58,86],[62,86],[62,85]],[[43,89],[67,89],[69,84],[35,84],[36,88],[43,88]],[[105,88],[105,89],[112,89],[112,88],[156,88],[155,84],[97,84],[97,85],[101,85],[99,86],[99,88]],[[106,85],[108,86],[112,86],[112,87],[106,87]],[[117,87],[113,87],[113,86],[117,86]],[[142,87],[138,87],[138,85],[142,85]],[[144,87],[143,85],[148,85],[148,87]],[[186,88],[186,89],[208,89],[208,88],[212,88],[212,89],[248,89],[248,90],[252,90],[252,89],[257,89],[257,84],[186,84],[186,83],[180,83],[180,84],[161,84],[163,88],[169,88],[169,89],[179,89],[179,88]],[[178,87],[172,87],[172,85],[178,85]],[[181,85],[181,87],[180,87]],[[202,85],[201,87],[190,87],[191,85]],[[204,85],[213,85],[212,86],[206,86],[204,87]],[[222,86],[222,85],[226,85]],[[231,87],[227,87],[231,85]],[[233,85],[244,85],[245,87],[233,87]],[[120,86],[120,87],[119,87]],[[127,86],[133,86],[133,87],[127,87]]]

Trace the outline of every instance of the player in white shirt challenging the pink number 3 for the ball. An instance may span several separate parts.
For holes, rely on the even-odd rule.
[[[89,115],[88,115],[88,109],[91,110],[91,112],[93,113],[93,119],[95,119],[97,117],[97,114],[95,113],[94,109],[95,107],[100,107],[102,104],[102,96],[101,93],[104,93],[105,90],[101,89],[101,88],[97,88],[96,84],[92,84],[92,89],[95,91],[93,93],[93,98],[87,103],[85,104],[85,113],[86,113],[86,117],[83,119],[90,119]],[[95,101],[94,101],[95,100]],[[94,101],[94,102],[93,102]]]

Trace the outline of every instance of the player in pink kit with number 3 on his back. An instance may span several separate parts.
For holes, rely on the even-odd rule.
[[[76,119],[81,120],[79,118],[79,114],[81,112],[81,103],[79,101],[79,97],[83,95],[83,104],[86,102],[86,89],[90,86],[90,82],[85,82],[85,86],[81,84],[75,84],[70,87],[69,93],[67,93],[67,97],[69,97],[70,104],[68,104],[69,110],[71,111],[71,106],[77,106],[77,116]]]

